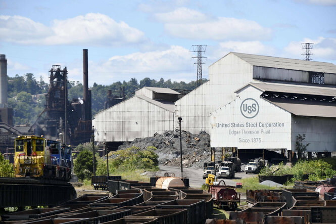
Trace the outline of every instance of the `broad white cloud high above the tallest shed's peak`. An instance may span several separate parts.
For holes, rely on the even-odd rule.
[[[179,8],[170,13],[157,13],[165,31],[175,37],[211,40],[269,40],[272,30],[255,21],[227,17],[212,18],[195,10]]]

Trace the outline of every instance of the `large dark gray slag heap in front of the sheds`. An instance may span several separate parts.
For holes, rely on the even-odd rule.
[[[181,131],[183,167],[203,168],[203,163],[210,161],[210,136],[201,131],[198,135]],[[129,147],[146,149],[149,146],[157,148],[159,163],[167,166],[180,166],[179,130],[168,130],[162,134],[155,133],[153,137],[137,138],[131,143],[125,142],[118,149]]]

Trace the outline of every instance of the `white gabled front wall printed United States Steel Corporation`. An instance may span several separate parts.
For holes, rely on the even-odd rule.
[[[291,150],[291,113],[260,98],[253,86],[234,101],[211,113],[211,147]],[[254,105],[253,105],[254,104]],[[252,106],[244,111],[244,106]]]

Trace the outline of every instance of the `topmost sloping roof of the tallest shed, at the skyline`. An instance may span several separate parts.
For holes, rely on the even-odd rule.
[[[336,74],[336,65],[332,63],[278,58],[261,55],[250,55],[236,52],[230,52],[230,54],[231,53],[253,66]]]

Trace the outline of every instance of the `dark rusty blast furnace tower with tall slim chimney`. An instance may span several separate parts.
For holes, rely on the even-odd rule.
[[[91,90],[88,88],[87,49],[83,49],[83,104],[68,101],[67,67],[53,65],[50,84],[45,96],[45,108],[30,128],[34,135],[60,139],[64,144],[89,142],[92,135]]]

